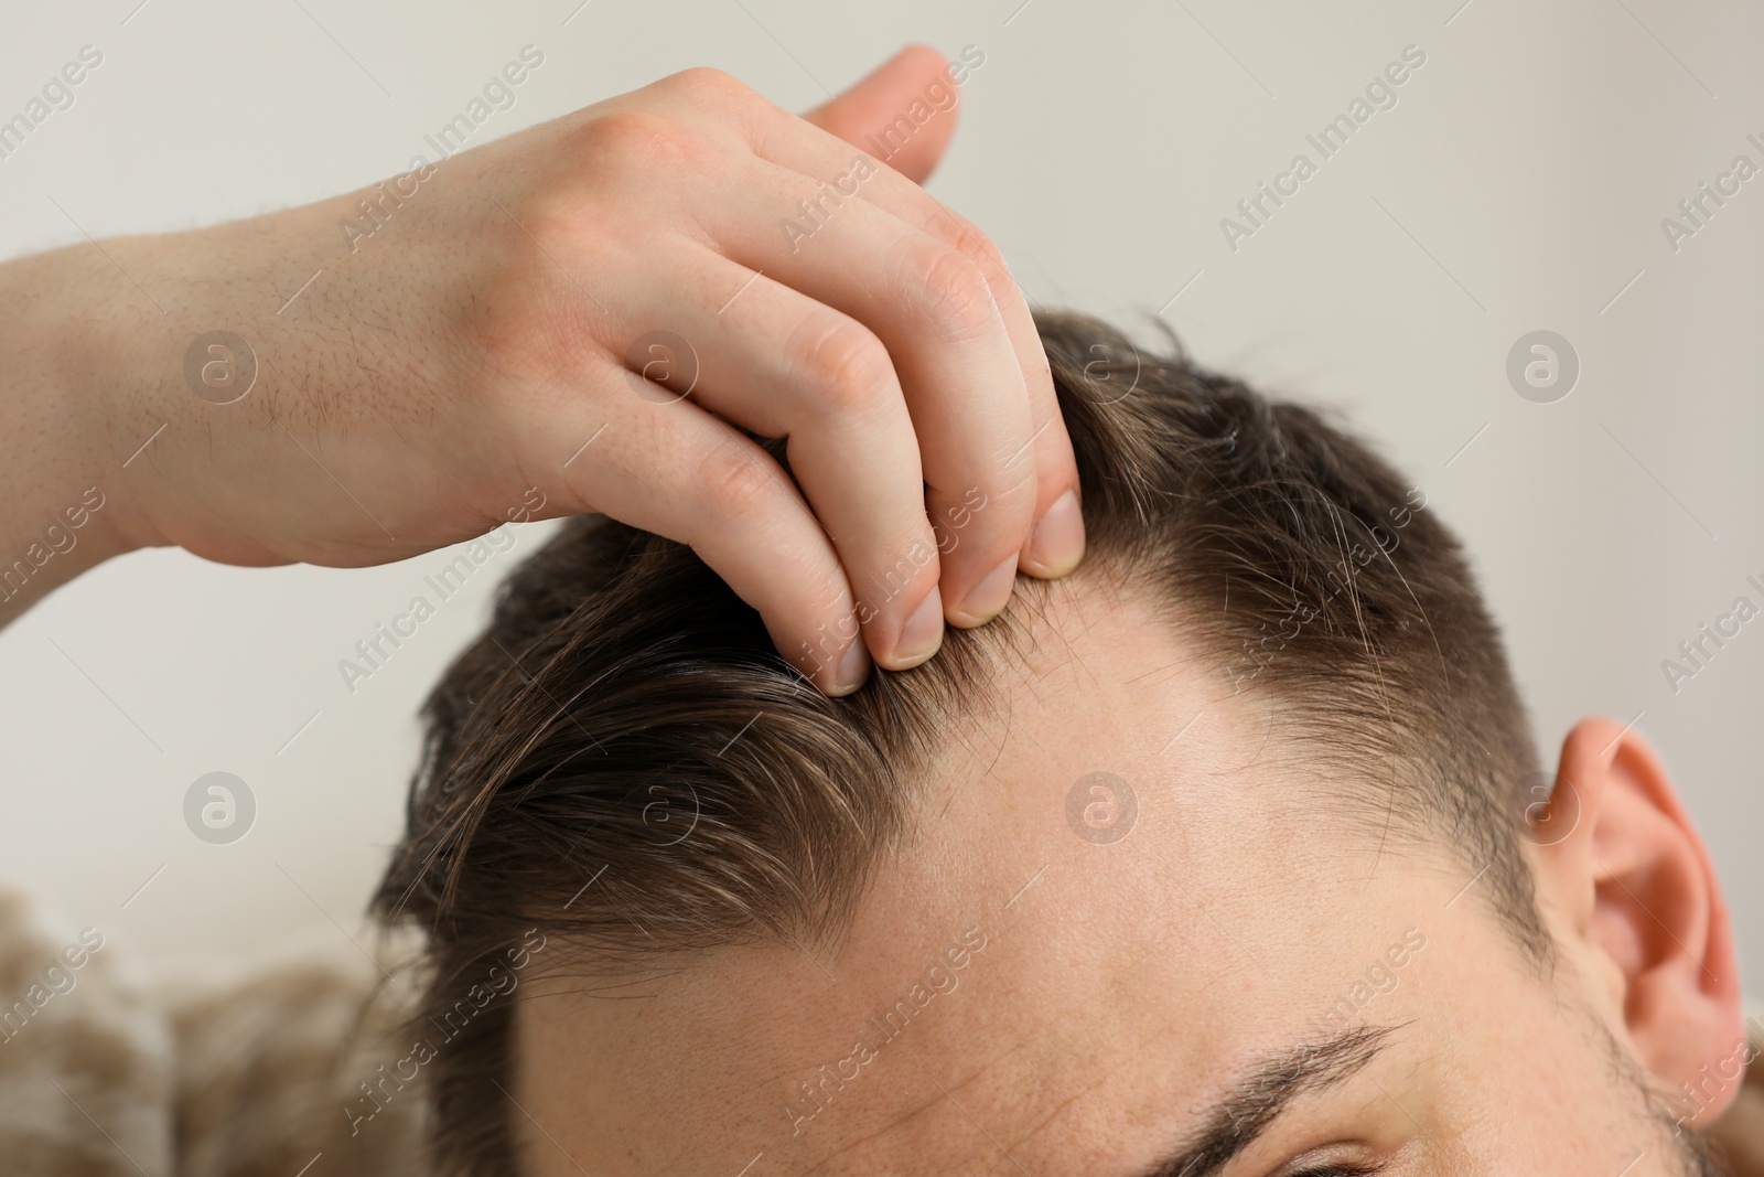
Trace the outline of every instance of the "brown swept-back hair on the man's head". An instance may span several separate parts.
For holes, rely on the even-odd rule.
[[[1037,325],[1078,455],[1087,570],[1148,588],[1222,686],[1275,708],[1344,821],[1431,835],[1487,868],[1476,900],[1547,960],[1517,836],[1529,725],[1425,494],[1175,339],[1150,355],[1083,316]],[[826,699],[691,549],[605,517],[564,524],[423,711],[409,829],[374,900],[429,932],[420,1020],[457,1015],[529,928],[582,967],[836,930],[1046,591],[1023,577],[1000,619]],[[448,1172],[515,1170],[492,1087],[510,1041],[512,1004],[489,1002],[429,1064]]]

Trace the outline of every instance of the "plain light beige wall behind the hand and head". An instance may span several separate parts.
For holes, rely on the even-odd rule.
[[[81,46],[71,109],[0,161],[0,252],[302,203],[406,168],[533,44],[506,134],[688,65],[792,109],[905,41],[986,60],[933,191],[1034,302],[1145,323],[1339,404],[1466,536],[1547,750],[1588,711],[1662,748],[1764,992],[1764,621],[1693,679],[1662,660],[1764,581],[1764,178],[1674,251],[1681,198],[1764,164],[1764,11],[1738,0],[106,0],[7,12],[0,116]],[[1221,217],[1418,46],[1425,65],[1238,249]],[[60,208],[56,206],[60,205]],[[65,212],[64,212],[65,210]],[[422,215],[420,210],[411,215]],[[376,247],[395,249],[395,236]],[[139,275],[152,282],[152,275]],[[289,293],[305,275],[289,275]],[[0,307],[0,314],[5,309]],[[1582,372],[1508,385],[1554,330]],[[0,358],[4,362],[4,358]],[[1466,448],[1468,446],[1468,448]],[[358,933],[416,753],[416,704],[482,621],[520,529],[349,693],[337,662],[446,563],[240,570],[139,552],[0,632],[0,872],[155,960],[226,965]],[[183,794],[258,798],[208,845]],[[143,889],[145,888],[145,889]]]

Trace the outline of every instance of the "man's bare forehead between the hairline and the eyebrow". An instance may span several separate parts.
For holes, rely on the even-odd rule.
[[[1057,593],[1037,630],[838,944],[527,1002],[527,1073],[624,1108],[594,1131],[654,1168],[1018,1172],[1009,1140],[1039,1172],[1122,1172],[1468,912],[1443,909],[1464,872],[1323,821],[1277,716],[1136,602]],[[669,1128],[688,1108],[702,1133]]]

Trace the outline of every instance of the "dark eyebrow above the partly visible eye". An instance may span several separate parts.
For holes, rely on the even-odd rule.
[[[1385,1048],[1395,1025],[1360,1025],[1327,1038],[1302,1039],[1256,1059],[1217,1103],[1201,1128],[1168,1159],[1141,1177],[1212,1177],[1247,1149],[1300,1096],[1346,1083]]]

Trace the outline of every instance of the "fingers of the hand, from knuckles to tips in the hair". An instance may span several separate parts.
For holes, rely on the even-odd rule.
[[[910,49],[815,116],[868,136],[935,65]],[[584,182],[619,189],[617,176],[662,166],[688,166],[695,182],[663,185],[686,229],[665,258],[651,238],[639,249],[589,233],[610,245],[600,263],[630,270],[621,281],[619,265],[598,266],[621,289],[626,337],[609,339],[621,330],[609,321],[591,330],[614,358],[642,332],[681,335],[695,383],[684,401],[656,385],[640,395],[635,381],[630,404],[600,404],[579,432],[607,425],[607,439],[570,471],[566,498],[691,544],[831,693],[856,688],[866,649],[891,669],[930,656],[940,612],[990,619],[1020,568],[1076,566],[1071,441],[998,251],[905,175],[714,71],[626,104],[637,118],[617,129],[642,143],[624,145],[626,168]],[[921,125],[919,146],[891,159],[924,175],[951,127]],[[572,404],[564,385],[589,399],[580,372],[556,383],[554,406]],[[729,422],[787,438],[799,489]],[[524,429],[556,438],[556,422]]]

